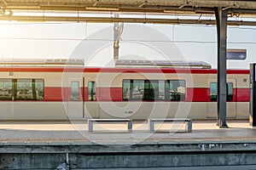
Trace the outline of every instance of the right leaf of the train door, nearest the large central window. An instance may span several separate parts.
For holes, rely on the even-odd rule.
[[[100,107],[97,96],[99,96],[97,89],[98,84],[95,78],[84,77],[84,117],[85,118],[99,118]]]

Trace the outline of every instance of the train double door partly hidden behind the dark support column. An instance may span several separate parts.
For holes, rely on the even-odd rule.
[[[217,118],[217,80],[208,80],[209,95],[207,102],[207,118]],[[236,118],[236,80],[228,79],[227,81],[227,118]]]

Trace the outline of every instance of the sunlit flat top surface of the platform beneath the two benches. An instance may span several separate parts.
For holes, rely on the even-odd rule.
[[[229,128],[219,128],[216,121],[194,121],[192,132],[183,124],[163,124],[150,132],[148,122],[134,121],[133,131],[125,123],[94,125],[88,132],[87,121],[2,121],[0,144],[189,144],[255,143],[256,128],[247,120],[227,121]],[[171,129],[171,130],[170,130]]]

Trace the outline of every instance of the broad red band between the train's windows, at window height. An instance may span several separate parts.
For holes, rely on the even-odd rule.
[[[249,88],[234,88],[232,102],[249,102]],[[84,88],[84,100],[88,100],[87,88]],[[82,88],[79,100],[82,101]],[[99,101],[123,101],[122,88],[96,88],[96,99]],[[70,101],[71,88],[45,88],[45,101]],[[209,88],[186,88],[186,102],[212,102]],[[215,102],[215,101],[213,101]]]

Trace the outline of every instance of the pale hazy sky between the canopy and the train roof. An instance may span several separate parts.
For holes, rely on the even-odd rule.
[[[124,24],[120,59],[205,61],[217,67],[215,26]],[[228,69],[256,62],[256,27],[229,26],[227,48],[247,49],[247,59],[228,60]],[[84,59],[87,66],[113,65],[113,24],[0,22],[0,59]]]

